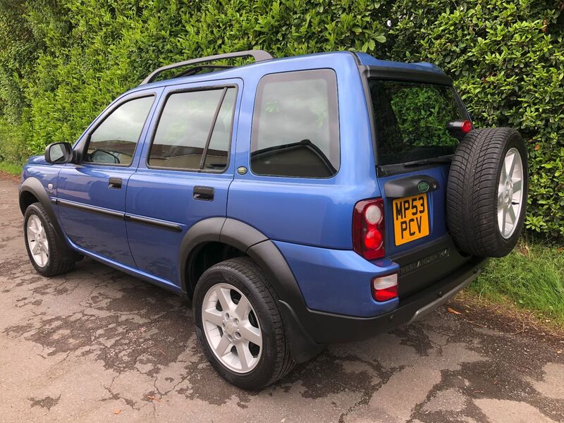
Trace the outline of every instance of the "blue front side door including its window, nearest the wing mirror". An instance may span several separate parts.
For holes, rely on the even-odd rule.
[[[135,172],[158,91],[119,99],[75,145],[78,164],[57,180],[57,207],[68,238],[83,252],[135,267],[125,232],[125,193]]]

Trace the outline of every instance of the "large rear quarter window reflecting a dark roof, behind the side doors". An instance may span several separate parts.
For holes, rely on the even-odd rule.
[[[257,87],[251,169],[264,176],[329,178],[340,161],[336,75],[273,73]]]

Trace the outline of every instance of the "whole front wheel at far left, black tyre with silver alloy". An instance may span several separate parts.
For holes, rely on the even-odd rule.
[[[64,274],[75,264],[78,255],[67,255],[59,247],[49,216],[39,202],[31,204],[25,210],[23,220],[25,248],[35,270],[43,276]]]

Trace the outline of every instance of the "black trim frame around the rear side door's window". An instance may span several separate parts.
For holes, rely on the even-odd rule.
[[[231,133],[229,133],[229,142],[227,146],[227,162],[225,168],[221,171],[214,171],[213,169],[199,169],[199,168],[173,168],[173,167],[164,167],[164,166],[151,166],[149,165],[149,159],[151,158],[151,150],[153,148],[154,137],[157,135],[157,129],[159,128],[159,123],[161,122],[161,117],[164,112],[164,108],[166,106],[166,102],[168,102],[168,98],[171,97],[173,94],[179,94],[181,92],[198,92],[198,91],[213,91],[213,90],[221,90],[221,89],[235,89],[235,105],[233,106],[233,112],[231,113]],[[225,92],[227,94],[227,90]],[[237,83],[227,83],[227,84],[220,84],[220,85],[199,85],[197,87],[181,87],[176,88],[174,90],[170,90],[166,93],[166,97],[162,102],[162,106],[159,109],[159,116],[157,116],[157,120],[155,121],[152,130],[151,130],[151,138],[149,141],[149,146],[147,148],[147,155],[145,157],[145,167],[147,169],[155,169],[160,171],[177,171],[177,172],[192,172],[192,173],[215,173],[215,174],[222,174],[226,173],[229,165],[231,164],[231,147],[233,143],[233,123],[235,123],[235,110],[237,109],[237,102],[238,102],[238,94],[239,94],[239,85]],[[213,122],[212,127],[215,127],[215,121]],[[212,130],[213,135],[213,130]],[[211,141],[211,139],[210,139]],[[204,156],[204,152],[202,152],[202,157]]]

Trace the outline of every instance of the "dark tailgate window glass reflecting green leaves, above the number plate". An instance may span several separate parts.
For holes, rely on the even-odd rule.
[[[453,87],[369,79],[379,165],[453,154],[458,139],[447,130],[463,119]]]

